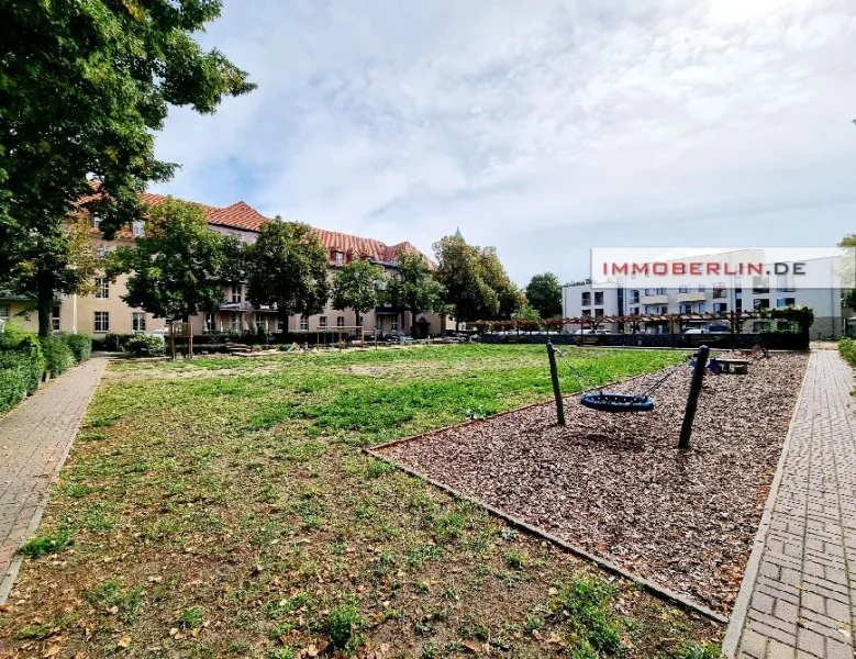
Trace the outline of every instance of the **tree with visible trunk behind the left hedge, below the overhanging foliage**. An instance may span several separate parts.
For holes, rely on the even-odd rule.
[[[30,299],[38,314],[38,335],[48,336],[55,294],[87,294],[95,288],[101,265],[85,217],[14,242],[4,278],[10,292]]]

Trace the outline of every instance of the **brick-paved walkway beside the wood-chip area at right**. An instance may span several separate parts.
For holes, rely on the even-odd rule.
[[[853,370],[814,350],[763,545],[723,646],[752,659],[853,659],[856,621],[856,398]],[[770,392],[772,393],[772,392]],[[766,516],[766,515],[765,515]],[[763,535],[763,530],[759,536]]]

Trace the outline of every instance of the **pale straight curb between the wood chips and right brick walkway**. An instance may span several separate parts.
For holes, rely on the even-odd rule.
[[[785,473],[785,461],[788,457],[788,453],[790,453],[793,425],[800,410],[800,399],[802,399],[805,381],[809,378],[811,355],[809,355],[809,364],[805,366],[805,372],[802,375],[800,391],[797,394],[797,402],[793,404],[793,412],[791,413],[790,423],[788,424],[788,432],[785,435],[785,442],[781,446],[779,462],[776,466],[776,474],[772,477],[770,492],[767,494],[767,502],[764,505],[764,513],[761,513],[760,516],[758,530],[755,533],[752,554],[749,555],[749,560],[746,562],[746,569],[743,571],[743,582],[737,592],[737,600],[734,602],[734,608],[731,612],[731,622],[729,623],[729,628],[725,630],[725,638],[722,639],[722,654],[729,659],[733,659],[733,657],[736,656],[737,650],[740,649],[741,638],[743,637],[743,625],[746,623],[746,614],[749,611],[749,602],[752,601],[752,591],[755,589],[755,581],[758,579],[760,559],[764,556],[764,547],[767,544],[767,535],[769,534],[770,523],[772,522],[772,509],[776,506],[776,498],[778,496],[779,487],[781,485],[781,479]]]

